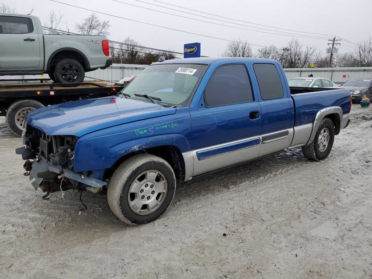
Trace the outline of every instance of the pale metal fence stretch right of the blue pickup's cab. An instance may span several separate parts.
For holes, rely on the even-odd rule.
[[[351,78],[372,79],[372,67],[345,67],[345,68],[288,68],[284,69],[287,79],[294,77],[325,77],[334,83],[342,84]]]

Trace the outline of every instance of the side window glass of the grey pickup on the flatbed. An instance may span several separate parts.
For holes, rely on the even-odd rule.
[[[0,34],[32,33],[31,19],[18,16],[0,16]]]

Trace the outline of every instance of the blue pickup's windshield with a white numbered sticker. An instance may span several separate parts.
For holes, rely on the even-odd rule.
[[[125,86],[118,96],[148,100],[151,96],[160,103],[187,105],[193,89],[207,65],[160,64],[150,65]],[[123,97],[124,97],[123,96]]]

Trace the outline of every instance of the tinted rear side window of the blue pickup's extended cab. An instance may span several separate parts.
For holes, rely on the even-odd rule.
[[[280,99],[284,96],[282,81],[274,64],[254,64],[262,100]]]

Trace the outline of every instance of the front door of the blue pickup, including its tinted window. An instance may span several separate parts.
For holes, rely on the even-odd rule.
[[[254,100],[246,65],[217,67],[190,114],[193,176],[258,156],[261,108]]]

